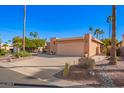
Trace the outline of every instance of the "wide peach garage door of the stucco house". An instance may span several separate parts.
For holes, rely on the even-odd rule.
[[[83,41],[59,42],[57,43],[57,55],[63,56],[82,56],[84,55]]]

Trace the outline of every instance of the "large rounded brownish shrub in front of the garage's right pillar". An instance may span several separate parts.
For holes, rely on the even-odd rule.
[[[93,69],[95,60],[89,57],[82,57],[79,59],[78,66],[84,69]]]

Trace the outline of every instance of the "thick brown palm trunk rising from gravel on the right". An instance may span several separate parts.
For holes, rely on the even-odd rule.
[[[112,6],[112,42],[109,64],[115,65],[116,61],[116,5]]]

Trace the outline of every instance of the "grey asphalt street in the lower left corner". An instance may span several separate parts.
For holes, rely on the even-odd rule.
[[[58,88],[34,77],[0,67],[0,88]]]

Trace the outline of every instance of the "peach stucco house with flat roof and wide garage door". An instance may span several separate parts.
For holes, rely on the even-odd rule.
[[[90,34],[84,37],[51,38],[49,52],[59,56],[94,56],[101,53],[102,44]]]

